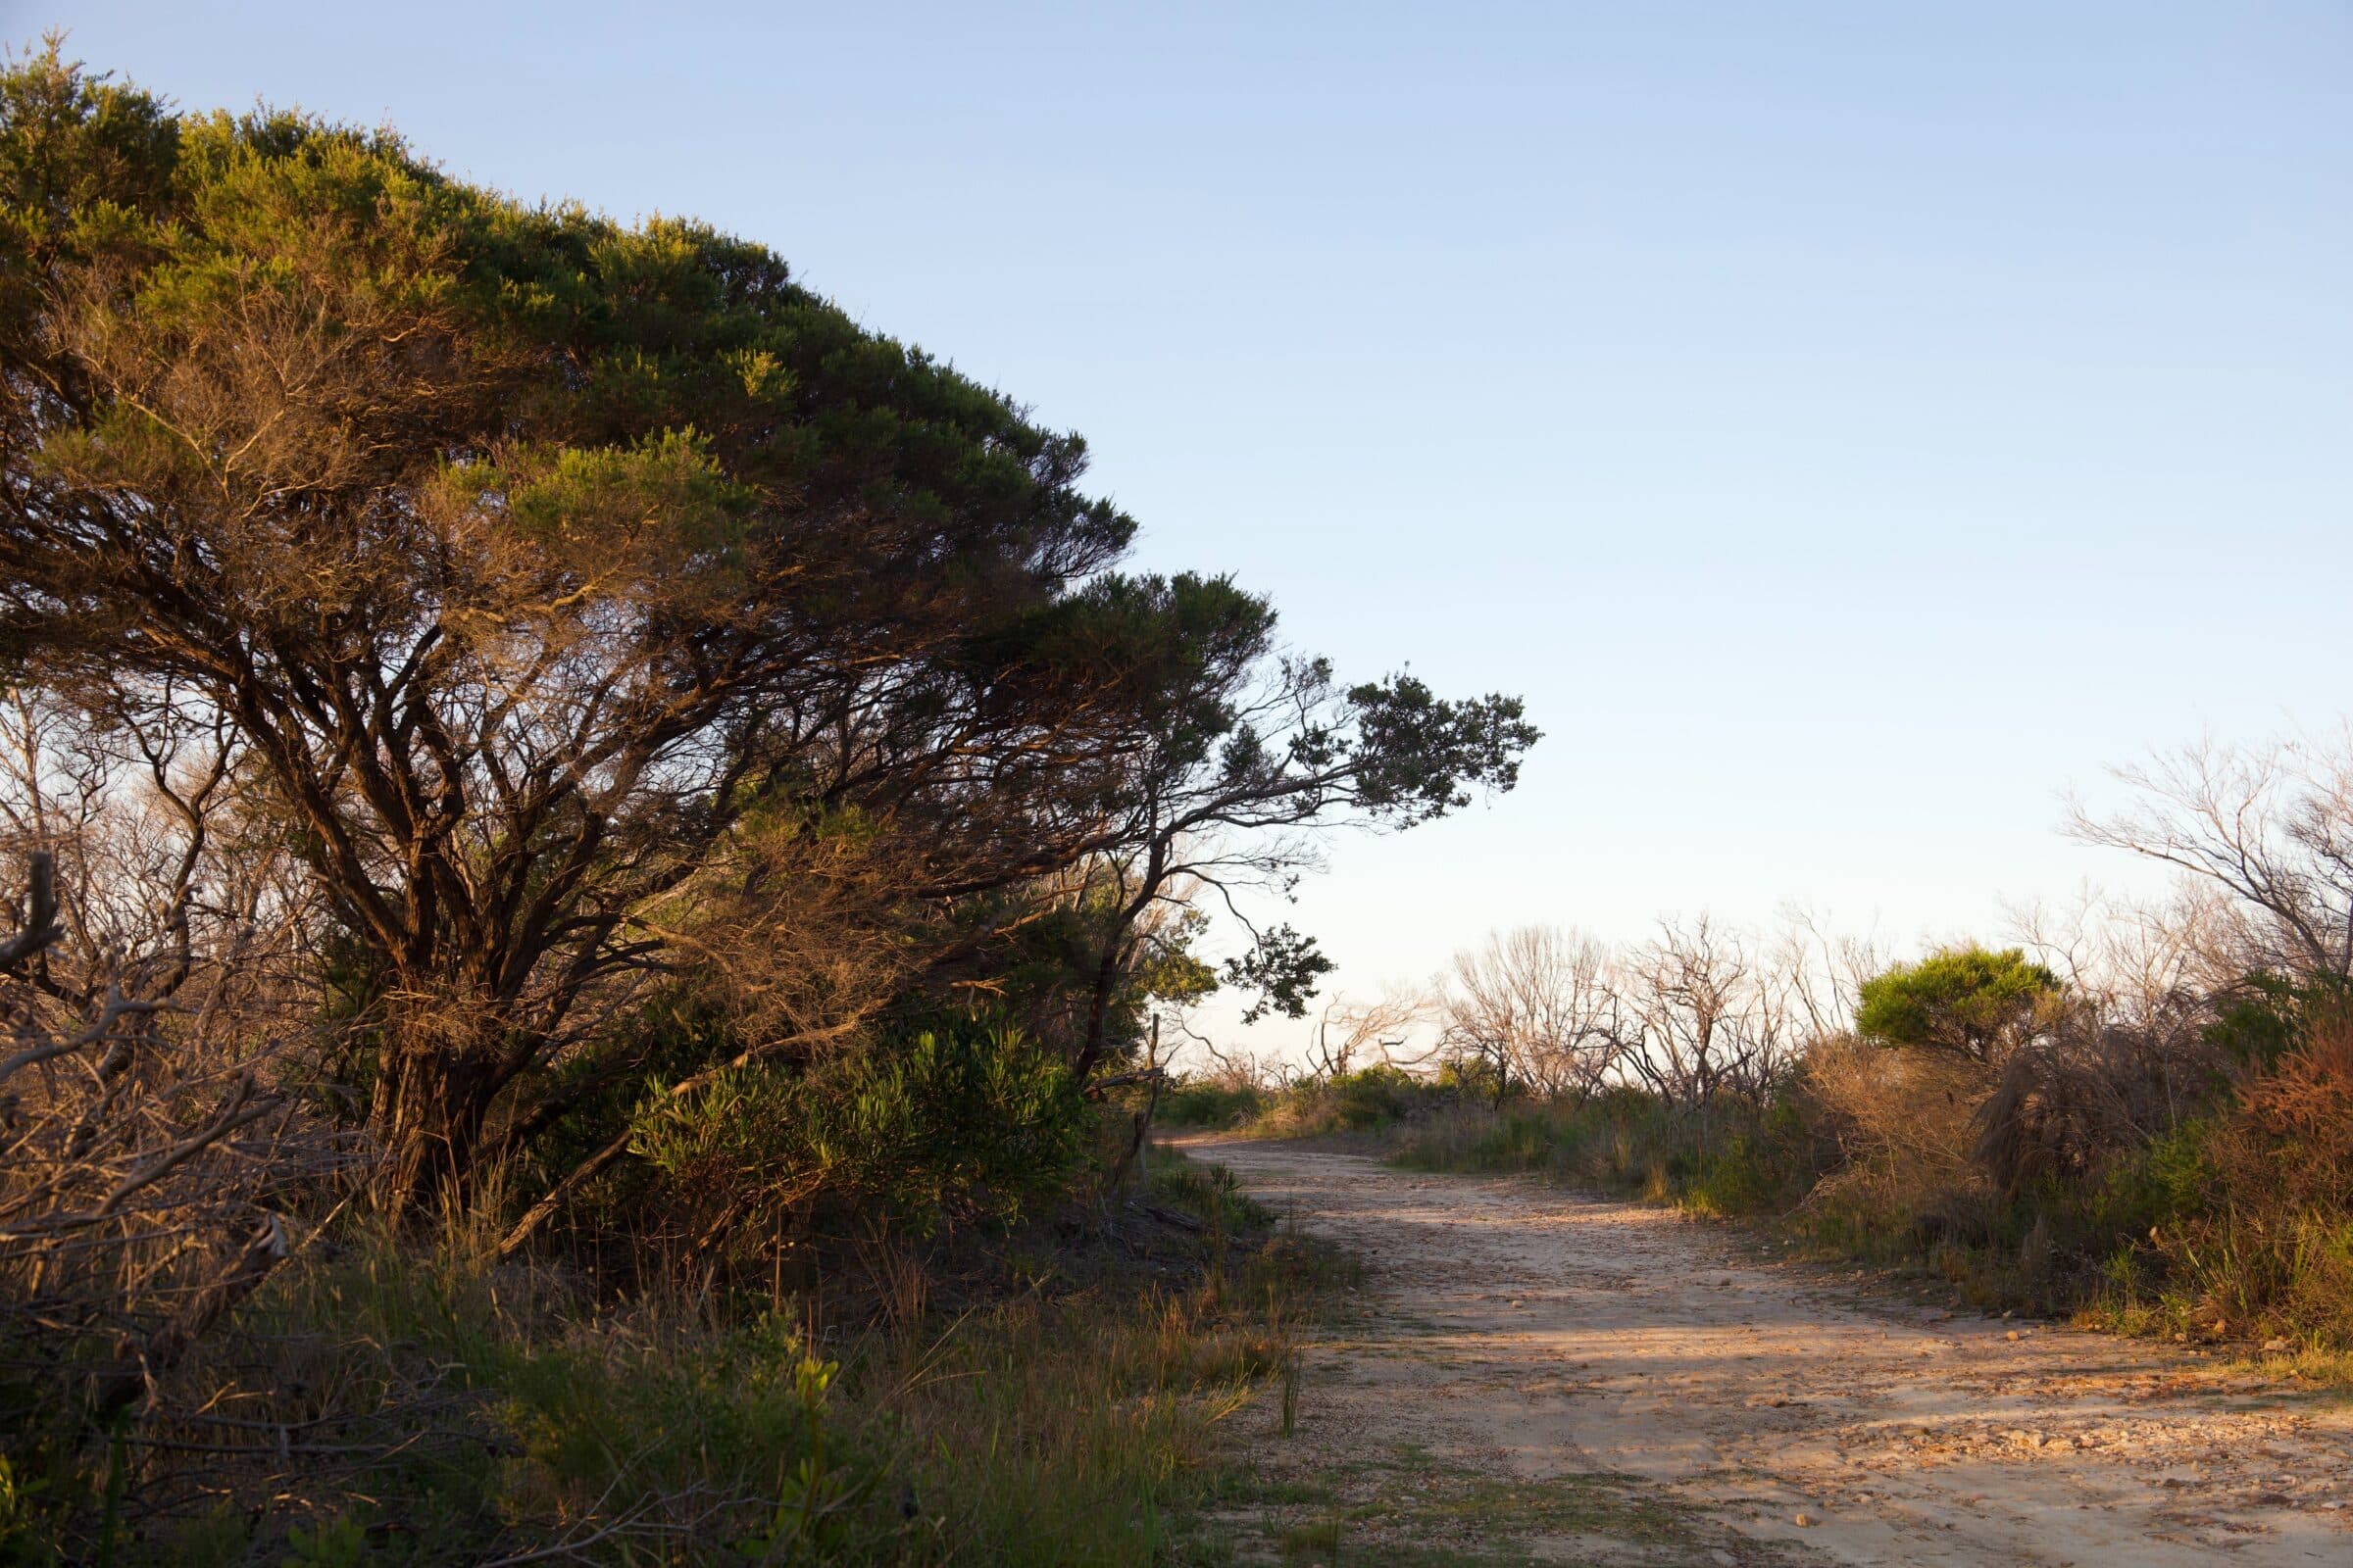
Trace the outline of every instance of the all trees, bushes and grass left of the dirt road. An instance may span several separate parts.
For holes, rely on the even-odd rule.
[[[1214,1552],[1344,1260],[1160,1027],[1537,731],[1085,468],[758,244],[0,68],[0,1561]]]

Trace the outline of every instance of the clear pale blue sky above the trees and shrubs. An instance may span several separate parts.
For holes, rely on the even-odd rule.
[[[1520,691],[1339,980],[2132,882],[2059,792],[2353,708],[2353,7],[0,0],[188,108],[694,214],[1082,430],[1139,562]],[[1259,1046],[1299,1034],[1264,1034]]]

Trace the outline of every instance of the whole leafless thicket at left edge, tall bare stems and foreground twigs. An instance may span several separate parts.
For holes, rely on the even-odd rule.
[[[214,1403],[207,1338],[332,1201],[313,912],[216,724],[0,701],[0,1460],[71,1533],[115,1432],[120,1519]],[[120,1458],[136,1455],[136,1458]],[[193,1486],[202,1495],[202,1486]]]

